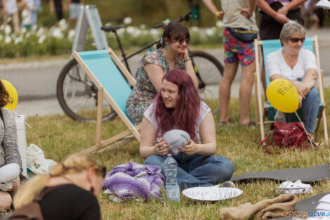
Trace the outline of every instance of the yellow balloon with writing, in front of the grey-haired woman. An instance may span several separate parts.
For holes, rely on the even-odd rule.
[[[281,112],[296,112],[299,107],[298,91],[289,80],[273,80],[267,87],[266,95],[270,105]]]

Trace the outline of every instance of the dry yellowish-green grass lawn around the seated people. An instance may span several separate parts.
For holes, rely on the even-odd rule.
[[[325,91],[326,103],[330,103],[330,89]],[[215,110],[218,101],[206,101]],[[238,99],[230,101],[230,118],[238,122]],[[326,105],[326,117],[330,119],[329,104]],[[251,101],[251,119],[254,118],[254,100]],[[218,121],[218,115],[215,116]],[[32,129],[27,128],[27,143],[39,145],[46,158],[57,162],[64,160],[71,153],[79,152],[95,143],[95,123],[74,122],[66,115],[47,117],[29,117],[27,122]],[[103,139],[124,131],[124,123],[116,119],[103,123]],[[266,131],[267,132],[267,131]],[[246,172],[270,171],[275,169],[312,167],[329,162],[329,145],[323,141],[323,127],[320,126],[316,140],[321,140],[319,149],[315,150],[281,150],[280,154],[268,155],[258,147],[260,130],[235,126],[216,127],[217,151],[216,155],[227,157],[235,164],[234,175]],[[99,164],[112,169],[118,164],[126,162],[143,163],[138,151],[138,141],[129,143],[121,148],[94,153]],[[220,219],[222,207],[242,205],[245,202],[256,203],[267,198],[275,198],[275,189],[279,183],[272,181],[257,181],[254,183],[237,184],[236,187],[244,193],[237,198],[215,203],[194,202],[182,195],[181,202],[167,202],[166,200],[150,202],[114,203],[100,195],[100,207],[103,219]],[[299,200],[322,192],[330,191],[330,182],[321,181],[313,185],[313,193],[298,195]]]

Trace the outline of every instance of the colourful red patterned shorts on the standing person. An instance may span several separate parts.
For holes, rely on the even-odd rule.
[[[223,30],[223,47],[225,48],[225,63],[235,63],[239,60],[242,66],[246,66],[254,60],[253,42],[239,41],[227,28]]]

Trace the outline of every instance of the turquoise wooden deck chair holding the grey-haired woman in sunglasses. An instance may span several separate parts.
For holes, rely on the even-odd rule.
[[[261,101],[261,86],[260,86],[260,60],[259,60],[259,53],[260,48],[263,49],[263,62],[265,65],[265,58],[268,56],[269,53],[272,53],[274,51],[277,51],[277,49],[281,48],[281,42],[279,39],[275,40],[264,40],[260,41],[258,39],[255,39],[254,41],[254,48],[256,51],[256,72],[255,72],[255,82],[256,82],[256,124],[260,124],[260,134],[261,139],[265,138],[265,130],[264,130],[264,124],[270,123],[271,121],[265,122],[265,110],[272,110],[275,112],[274,108],[272,108],[271,105],[268,105],[267,103],[262,103]],[[323,93],[323,70],[320,68],[319,64],[319,44],[317,41],[317,36],[315,37],[308,37],[305,39],[305,42],[303,44],[303,48],[308,49],[315,53],[316,59],[317,59],[317,77],[319,82],[319,96],[320,96],[320,105],[319,105],[319,116],[317,119],[317,125],[315,127],[315,131],[319,128],[319,123],[321,122],[321,119],[323,118],[323,127],[324,127],[324,139],[326,142],[328,142],[328,130],[326,127],[326,114],[325,114],[325,102],[324,102],[324,93]],[[315,50],[313,50],[313,48]],[[267,77],[266,72],[266,84],[268,86],[269,79]],[[272,118],[270,117],[270,120],[274,119],[275,114],[273,114]],[[259,121],[258,121],[259,118]]]

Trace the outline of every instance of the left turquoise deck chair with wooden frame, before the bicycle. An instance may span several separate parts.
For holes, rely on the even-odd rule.
[[[83,152],[91,153],[114,142],[116,143],[112,147],[119,147],[133,141],[135,138],[140,141],[140,133],[138,132],[140,126],[135,127],[126,115],[126,100],[131,94],[131,86],[136,84],[136,80],[126,70],[114,51],[111,48],[99,51],[74,51],[72,55],[83,67],[95,86],[98,87],[96,143],[91,148],[83,150]],[[129,84],[124,77],[126,77]],[[105,141],[101,140],[103,97],[128,127],[128,130]],[[128,136],[130,134],[131,136]]]

